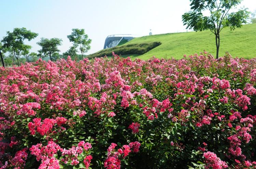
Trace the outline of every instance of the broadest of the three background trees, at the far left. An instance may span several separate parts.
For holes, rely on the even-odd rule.
[[[14,28],[13,32],[7,31],[6,34],[7,36],[2,40],[3,47],[8,48],[13,53],[19,66],[19,57],[22,52],[27,52],[31,49],[31,46],[25,44],[24,40],[30,41],[37,37],[38,34],[27,30],[25,27]]]

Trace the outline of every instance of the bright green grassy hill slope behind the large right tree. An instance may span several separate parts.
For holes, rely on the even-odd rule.
[[[229,52],[233,57],[256,57],[256,23],[243,25],[234,31],[230,31],[228,27],[224,28],[220,33],[220,37],[219,56]],[[214,56],[216,54],[215,35],[208,30],[143,36],[134,38],[123,45],[151,42],[161,42],[161,45],[142,55],[131,53],[130,57],[132,59],[148,59],[156,56],[158,58],[174,57],[181,59],[184,54],[191,55],[203,50],[212,53]],[[128,55],[126,54],[123,57],[126,56]]]

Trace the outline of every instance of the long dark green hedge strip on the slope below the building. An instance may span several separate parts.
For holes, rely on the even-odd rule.
[[[116,54],[144,54],[157,46],[159,46],[161,42],[151,42],[151,43],[139,43],[139,44],[125,44],[121,46],[115,46],[114,48],[109,49],[103,49],[99,52],[96,52],[94,54],[90,54],[87,57],[88,58],[95,58],[95,57],[103,57],[103,56],[109,56],[112,55],[112,52],[115,52]]]

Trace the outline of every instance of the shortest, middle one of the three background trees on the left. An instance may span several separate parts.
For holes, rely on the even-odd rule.
[[[52,38],[52,39],[47,39],[47,38],[41,38],[37,44],[42,47],[41,50],[38,52],[41,54],[41,56],[46,55],[50,57],[50,60],[53,61],[52,59],[52,54],[59,52],[60,50],[58,49],[58,46],[60,46],[62,43],[62,39],[59,38]]]

